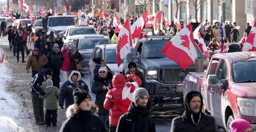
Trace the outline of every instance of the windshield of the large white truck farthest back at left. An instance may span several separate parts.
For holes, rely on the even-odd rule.
[[[50,18],[49,26],[73,26],[75,19],[73,17]]]

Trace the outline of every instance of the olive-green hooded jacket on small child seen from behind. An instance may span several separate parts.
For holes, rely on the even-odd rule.
[[[45,99],[45,109],[46,110],[57,110],[58,109],[58,97],[60,95],[60,90],[54,86],[48,86],[44,89],[45,94],[39,95],[41,99]]]

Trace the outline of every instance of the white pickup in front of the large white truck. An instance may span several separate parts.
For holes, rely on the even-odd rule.
[[[78,38],[84,37],[86,34],[97,34],[97,31],[92,26],[68,26],[65,34],[60,37],[64,43],[67,42],[68,44],[76,44]]]

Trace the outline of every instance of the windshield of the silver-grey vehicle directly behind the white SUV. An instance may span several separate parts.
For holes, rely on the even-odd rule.
[[[82,40],[82,39],[81,39]],[[93,49],[96,45],[100,44],[110,44],[110,41],[108,39],[105,40],[85,40],[83,39],[80,41],[79,49]]]

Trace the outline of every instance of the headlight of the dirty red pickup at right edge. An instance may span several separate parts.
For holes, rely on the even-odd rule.
[[[256,116],[256,99],[236,98],[236,102],[243,115]]]

